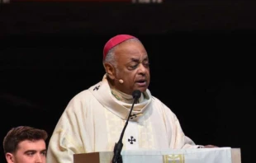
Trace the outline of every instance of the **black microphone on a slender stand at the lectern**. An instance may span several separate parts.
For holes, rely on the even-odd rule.
[[[115,147],[114,147],[114,156],[113,156],[113,159],[112,159],[112,163],[122,163],[122,158],[121,158],[121,148],[123,147],[123,143],[121,142],[123,137],[124,137],[124,133],[126,131],[126,127],[127,127],[127,124],[128,124],[128,121],[130,119],[130,114],[131,114],[131,111],[133,109],[133,106],[135,105],[135,103],[137,102],[137,100],[139,100],[140,98],[140,95],[141,95],[141,92],[139,90],[135,90],[132,92],[132,96],[134,98],[134,102],[133,104],[131,105],[131,108],[130,108],[130,113],[128,115],[128,118],[126,119],[126,125],[125,127],[123,128],[122,132],[121,132],[121,136],[119,138],[119,141],[115,144]]]

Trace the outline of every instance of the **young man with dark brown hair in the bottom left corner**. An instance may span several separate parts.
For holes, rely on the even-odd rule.
[[[3,139],[7,163],[45,163],[47,137],[45,130],[38,128],[12,128]]]

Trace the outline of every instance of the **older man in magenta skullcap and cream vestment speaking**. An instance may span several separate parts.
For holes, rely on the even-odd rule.
[[[73,154],[113,151],[130,108],[132,92],[142,92],[131,111],[123,150],[197,148],[175,114],[148,90],[149,58],[132,35],[116,35],[103,49],[102,81],[75,95],[50,138],[48,163],[71,163]]]

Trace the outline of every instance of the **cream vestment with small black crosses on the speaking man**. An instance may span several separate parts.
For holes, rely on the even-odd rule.
[[[75,95],[50,137],[47,163],[73,163],[73,154],[113,151],[125,126],[131,104],[116,100],[106,76]],[[196,148],[175,114],[145,91],[134,105],[122,139],[122,150]]]

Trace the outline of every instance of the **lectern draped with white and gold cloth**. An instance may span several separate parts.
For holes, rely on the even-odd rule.
[[[123,163],[241,163],[239,148],[121,151]],[[73,155],[73,163],[111,163],[113,151]]]

